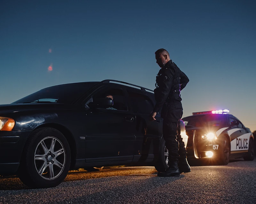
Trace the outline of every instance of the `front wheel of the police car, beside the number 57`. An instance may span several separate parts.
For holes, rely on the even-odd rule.
[[[227,165],[229,163],[230,157],[230,141],[225,136],[221,137],[221,146],[220,146],[220,157],[219,157],[219,164],[220,165]]]

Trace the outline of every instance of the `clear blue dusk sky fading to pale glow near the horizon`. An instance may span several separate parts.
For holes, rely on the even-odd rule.
[[[254,131],[255,11],[246,0],[1,1],[0,104],[82,81],[154,89],[165,48],[190,79],[183,116],[228,108]]]

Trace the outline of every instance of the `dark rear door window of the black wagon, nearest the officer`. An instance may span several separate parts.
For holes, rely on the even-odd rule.
[[[147,95],[135,91],[127,90],[132,109],[135,113],[150,114],[153,110],[153,104]]]

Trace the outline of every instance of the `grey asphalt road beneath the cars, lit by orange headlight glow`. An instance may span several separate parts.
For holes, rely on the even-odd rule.
[[[157,177],[154,167],[69,172],[54,188],[28,189],[0,178],[0,203],[256,203],[256,159],[192,166],[180,177]]]

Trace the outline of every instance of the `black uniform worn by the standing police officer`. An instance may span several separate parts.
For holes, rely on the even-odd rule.
[[[156,105],[153,112],[158,112],[163,107],[163,137],[170,161],[177,161],[180,157],[186,158],[185,144],[180,135],[180,119],[183,114],[180,91],[188,82],[188,77],[172,60],[168,61],[156,76]]]

